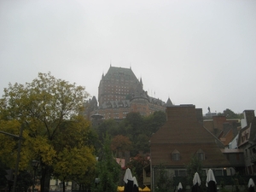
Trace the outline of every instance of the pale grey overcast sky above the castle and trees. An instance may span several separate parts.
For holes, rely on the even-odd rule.
[[[164,102],[255,110],[256,1],[0,1],[1,96],[50,72],[97,98],[110,64]]]

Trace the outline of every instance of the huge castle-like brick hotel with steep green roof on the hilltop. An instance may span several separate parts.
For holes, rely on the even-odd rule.
[[[87,115],[90,117],[125,119],[126,114],[130,112],[148,116],[154,111],[165,111],[166,105],[172,105],[172,102],[170,99],[162,102],[160,99],[148,96],[148,92],[143,90],[143,80],[137,79],[131,67],[110,66],[108,73],[102,74],[98,102],[93,96],[89,104]]]

